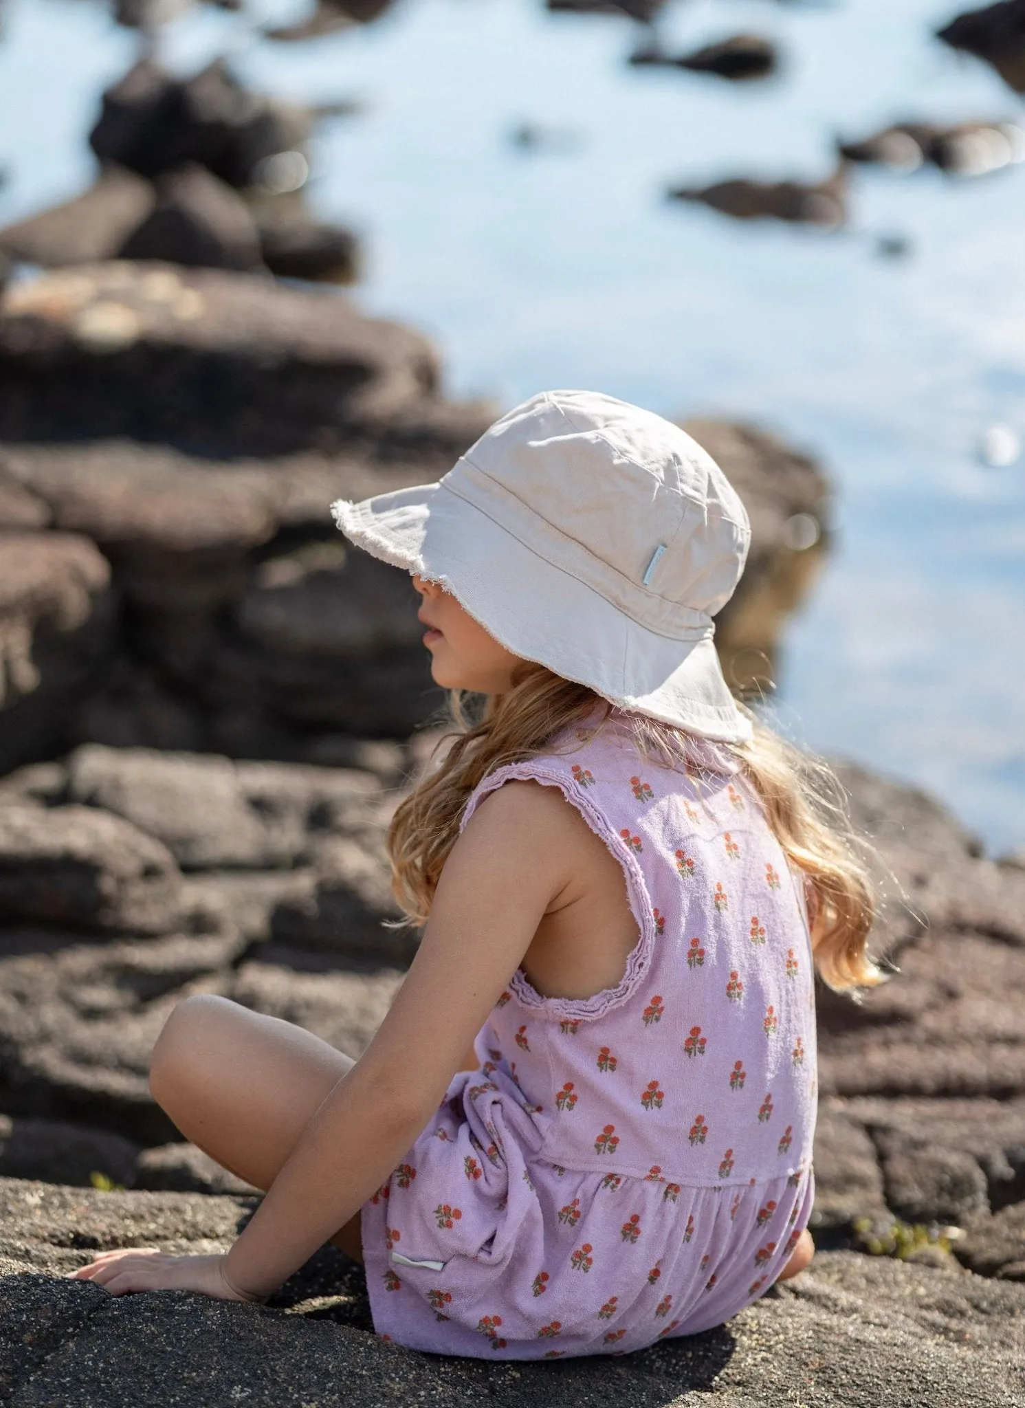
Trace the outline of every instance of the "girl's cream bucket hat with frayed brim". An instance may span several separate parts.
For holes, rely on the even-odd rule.
[[[748,514],[660,415],[542,391],[436,483],[331,508],[348,538],[439,583],[514,655],[691,734],[750,736],[711,620],[743,572]]]

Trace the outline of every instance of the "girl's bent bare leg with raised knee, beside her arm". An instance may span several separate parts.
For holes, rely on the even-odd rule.
[[[149,1088],[187,1139],[266,1190],[353,1064],[291,1022],[224,997],[187,997],[156,1039]],[[331,1240],[362,1262],[359,1214]]]

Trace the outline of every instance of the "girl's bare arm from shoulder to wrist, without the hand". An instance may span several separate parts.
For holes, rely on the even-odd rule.
[[[420,950],[366,1053],[306,1126],[224,1266],[244,1295],[296,1271],[390,1177],[570,879],[566,801],[508,783],[456,841]]]

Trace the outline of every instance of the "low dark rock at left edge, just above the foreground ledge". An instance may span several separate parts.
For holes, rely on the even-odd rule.
[[[131,1187],[138,1156],[138,1145],[104,1129],[0,1115],[0,1176],[4,1178],[42,1178],[87,1188],[99,1174]]]

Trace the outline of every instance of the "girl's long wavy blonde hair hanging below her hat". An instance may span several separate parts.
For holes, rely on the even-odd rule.
[[[542,753],[553,734],[589,719],[596,705],[603,712],[594,731],[608,722],[612,705],[587,686],[527,660],[517,666],[504,694],[449,691],[453,728],[438,741],[427,770],[396,808],[389,828],[391,888],[404,914],[396,928],[427,922],[474,787],[505,763]],[[645,759],[663,767],[687,763],[694,745],[684,729],[643,714],[615,714]],[[804,877],[815,967],[838,991],[872,987],[883,980],[866,953],[874,895],[857,855],[843,790],[824,762],[749,717],[752,741],[722,746],[739,762],[742,776],[760,798],[787,863]]]

